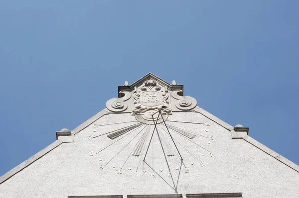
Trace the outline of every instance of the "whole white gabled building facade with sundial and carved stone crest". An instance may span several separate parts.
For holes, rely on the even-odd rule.
[[[299,166],[149,73],[0,177],[1,198],[299,198]]]

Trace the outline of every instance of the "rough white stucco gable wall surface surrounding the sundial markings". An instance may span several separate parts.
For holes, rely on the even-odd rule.
[[[104,115],[95,123],[100,125],[134,120],[134,116],[130,113],[111,113]],[[168,120],[210,123],[210,126],[207,126],[167,122],[167,124],[197,134],[214,137],[210,145],[207,144],[207,138],[199,135],[191,140],[210,150],[213,153],[210,157],[209,152],[170,131],[174,139],[203,163],[203,166],[200,166],[197,159],[181,145],[176,144],[189,171],[185,173],[183,165],[180,170],[176,170],[181,165],[178,153],[175,153],[173,157],[167,157],[173,182],[156,132],[153,135],[146,161],[164,180],[157,175],[155,179],[151,178],[150,174],[153,171],[143,162],[143,156],[140,162],[141,156],[130,155],[143,134],[143,132],[138,134],[143,127],[99,154],[90,156],[91,151],[96,153],[124,135],[114,140],[109,139],[107,135],[89,140],[89,135],[99,135],[129,126],[134,122],[98,126],[96,132],[93,131],[95,128],[91,124],[75,135],[74,142],[61,144],[0,184],[0,198],[175,194],[173,186],[177,186],[178,194],[241,192],[244,198],[299,198],[299,173],[297,171],[243,139],[232,139],[230,131],[217,123],[197,112],[173,112]],[[171,143],[169,136],[159,127],[157,129],[159,134],[163,134]],[[150,133],[152,130],[153,126]],[[135,135],[137,135],[136,138],[132,140]],[[132,140],[131,143],[107,166],[103,169],[99,168],[100,165],[105,165],[111,160],[130,140]],[[92,146],[93,144],[95,146]],[[172,143],[171,145],[175,150]],[[204,156],[201,156],[202,154]],[[118,174],[116,170],[123,166],[127,158],[123,173]],[[135,177],[134,173],[139,162],[139,177]],[[116,167],[113,168],[113,166]],[[132,170],[128,170],[129,168]],[[159,171],[160,169],[163,171]],[[146,172],[143,172],[144,170]]]

